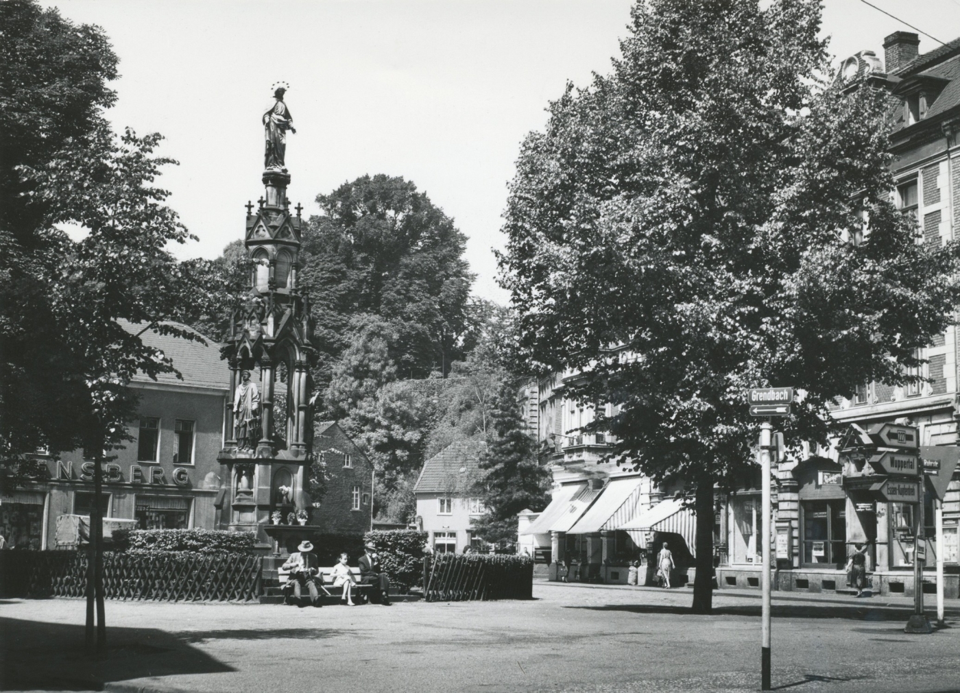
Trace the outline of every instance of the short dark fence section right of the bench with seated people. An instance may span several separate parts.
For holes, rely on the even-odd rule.
[[[423,560],[427,602],[532,599],[533,581],[529,556],[436,554]]]

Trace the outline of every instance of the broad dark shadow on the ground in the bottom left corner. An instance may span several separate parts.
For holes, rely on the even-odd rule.
[[[101,690],[109,681],[236,671],[153,628],[108,628],[107,657],[84,653],[84,627],[0,618],[0,690]]]

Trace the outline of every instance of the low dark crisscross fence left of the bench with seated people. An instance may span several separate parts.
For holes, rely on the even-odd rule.
[[[83,597],[84,551],[0,552],[0,595]],[[104,554],[108,599],[167,602],[250,601],[261,592],[256,556],[229,554]]]

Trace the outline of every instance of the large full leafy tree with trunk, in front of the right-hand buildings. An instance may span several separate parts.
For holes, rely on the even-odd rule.
[[[595,428],[698,514],[752,469],[746,389],[804,389],[786,432],[826,442],[834,397],[909,379],[957,299],[955,246],[889,199],[886,93],[830,88],[819,3],[761,5],[637,3],[612,74],[525,140],[500,258],[528,362],[585,370],[571,395],[616,405]]]

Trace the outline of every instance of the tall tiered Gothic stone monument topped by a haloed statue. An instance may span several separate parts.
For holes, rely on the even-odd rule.
[[[255,532],[262,542],[272,514],[279,512],[286,524],[290,513],[309,505],[309,366],[316,359],[307,298],[297,284],[302,207],[295,216],[287,202],[286,131],[295,130],[283,101],[285,84],[274,86],[274,101],[262,116],[266,195],[255,213],[247,204],[250,291],[233,313],[222,349],[230,399],[227,442],[218,457],[225,480],[220,525]]]

